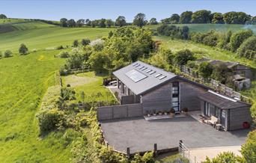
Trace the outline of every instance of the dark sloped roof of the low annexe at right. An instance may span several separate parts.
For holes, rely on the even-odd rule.
[[[237,101],[236,99],[231,99],[230,97],[221,95],[219,93],[215,93],[212,90],[208,90],[206,93],[202,93],[198,97],[222,109],[251,106],[245,102],[240,102],[240,101]]]

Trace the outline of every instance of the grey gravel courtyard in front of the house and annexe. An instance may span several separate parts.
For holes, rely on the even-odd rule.
[[[164,120],[144,120],[141,117],[101,123],[106,141],[115,150],[126,152],[130,147],[131,153],[153,150],[155,143],[159,150],[177,147],[179,140],[183,140],[189,149],[240,146],[249,132],[219,132],[190,116]]]

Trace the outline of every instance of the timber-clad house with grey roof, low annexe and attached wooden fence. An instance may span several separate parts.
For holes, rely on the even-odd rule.
[[[99,108],[100,120],[118,118],[119,115],[142,116],[150,111],[169,111],[171,108],[179,113],[183,108],[188,108],[189,111],[201,111],[205,118],[216,117],[225,130],[242,129],[244,122],[251,122],[251,105],[141,61],[113,74],[117,78],[121,105]],[[132,114],[136,107],[141,112]]]

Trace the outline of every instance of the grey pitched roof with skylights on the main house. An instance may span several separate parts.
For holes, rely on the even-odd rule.
[[[129,64],[113,74],[136,95],[145,93],[176,77],[174,73],[166,72],[141,61]]]

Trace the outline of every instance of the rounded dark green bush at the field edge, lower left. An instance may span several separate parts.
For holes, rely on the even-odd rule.
[[[42,110],[37,113],[37,118],[41,135],[64,127],[65,116],[63,111],[57,109]]]

